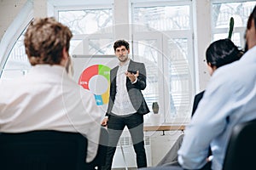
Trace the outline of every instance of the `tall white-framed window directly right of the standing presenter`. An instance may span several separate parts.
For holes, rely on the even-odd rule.
[[[134,58],[145,63],[148,75],[143,94],[151,111],[152,103],[159,103],[163,123],[190,115],[195,92],[191,6],[191,1],[132,3],[132,22],[139,23],[132,29]]]

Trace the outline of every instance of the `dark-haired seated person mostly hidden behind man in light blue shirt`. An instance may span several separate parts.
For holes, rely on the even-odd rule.
[[[219,67],[240,59],[242,54],[242,51],[239,50],[230,39],[221,39],[216,42],[212,42],[207,48],[206,53],[207,66],[210,75],[212,76],[212,73]],[[204,92],[205,91],[202,91],[201,93],[195,95],[192,116],[194,115],[197,105],[203,97]],[[166,154],[166,156],[164,156],[158,166],[167,164],[175,165],[177,163],[177,150],[180,149],[182,141],[183,134],[177,139],[176,143],[172,146],[172,149]],[[209,150],[209,152],[211,151]],[[211,153],[209,153],[209,155],[211,155]],[[207,167],[205,168],[209,168],[208,166],[209,164],[207,164]]]

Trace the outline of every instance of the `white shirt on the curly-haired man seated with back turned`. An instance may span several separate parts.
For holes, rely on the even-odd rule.
[[[60,65],[36,65],[19,79],[0,80],[0,132],[56,130],[82,133],[92,161],[102,112],[93,94],[67,76]]]

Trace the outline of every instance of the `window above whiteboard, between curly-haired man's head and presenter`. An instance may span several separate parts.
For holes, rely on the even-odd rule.
[[[56,8],[58,19],[73,31],[70,54],[113,54],[112,6]],[[90,23],[90,24],[88,24]]]

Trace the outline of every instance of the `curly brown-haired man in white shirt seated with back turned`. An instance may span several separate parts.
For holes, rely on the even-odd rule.
[[[72,36],[54,18],[35,19],[28,26],[24,42],[32,69],[25,77],[1,80],[0,132],[82,133],[89,162],[96,156],[102,116],[93,94],[67,75]]]

